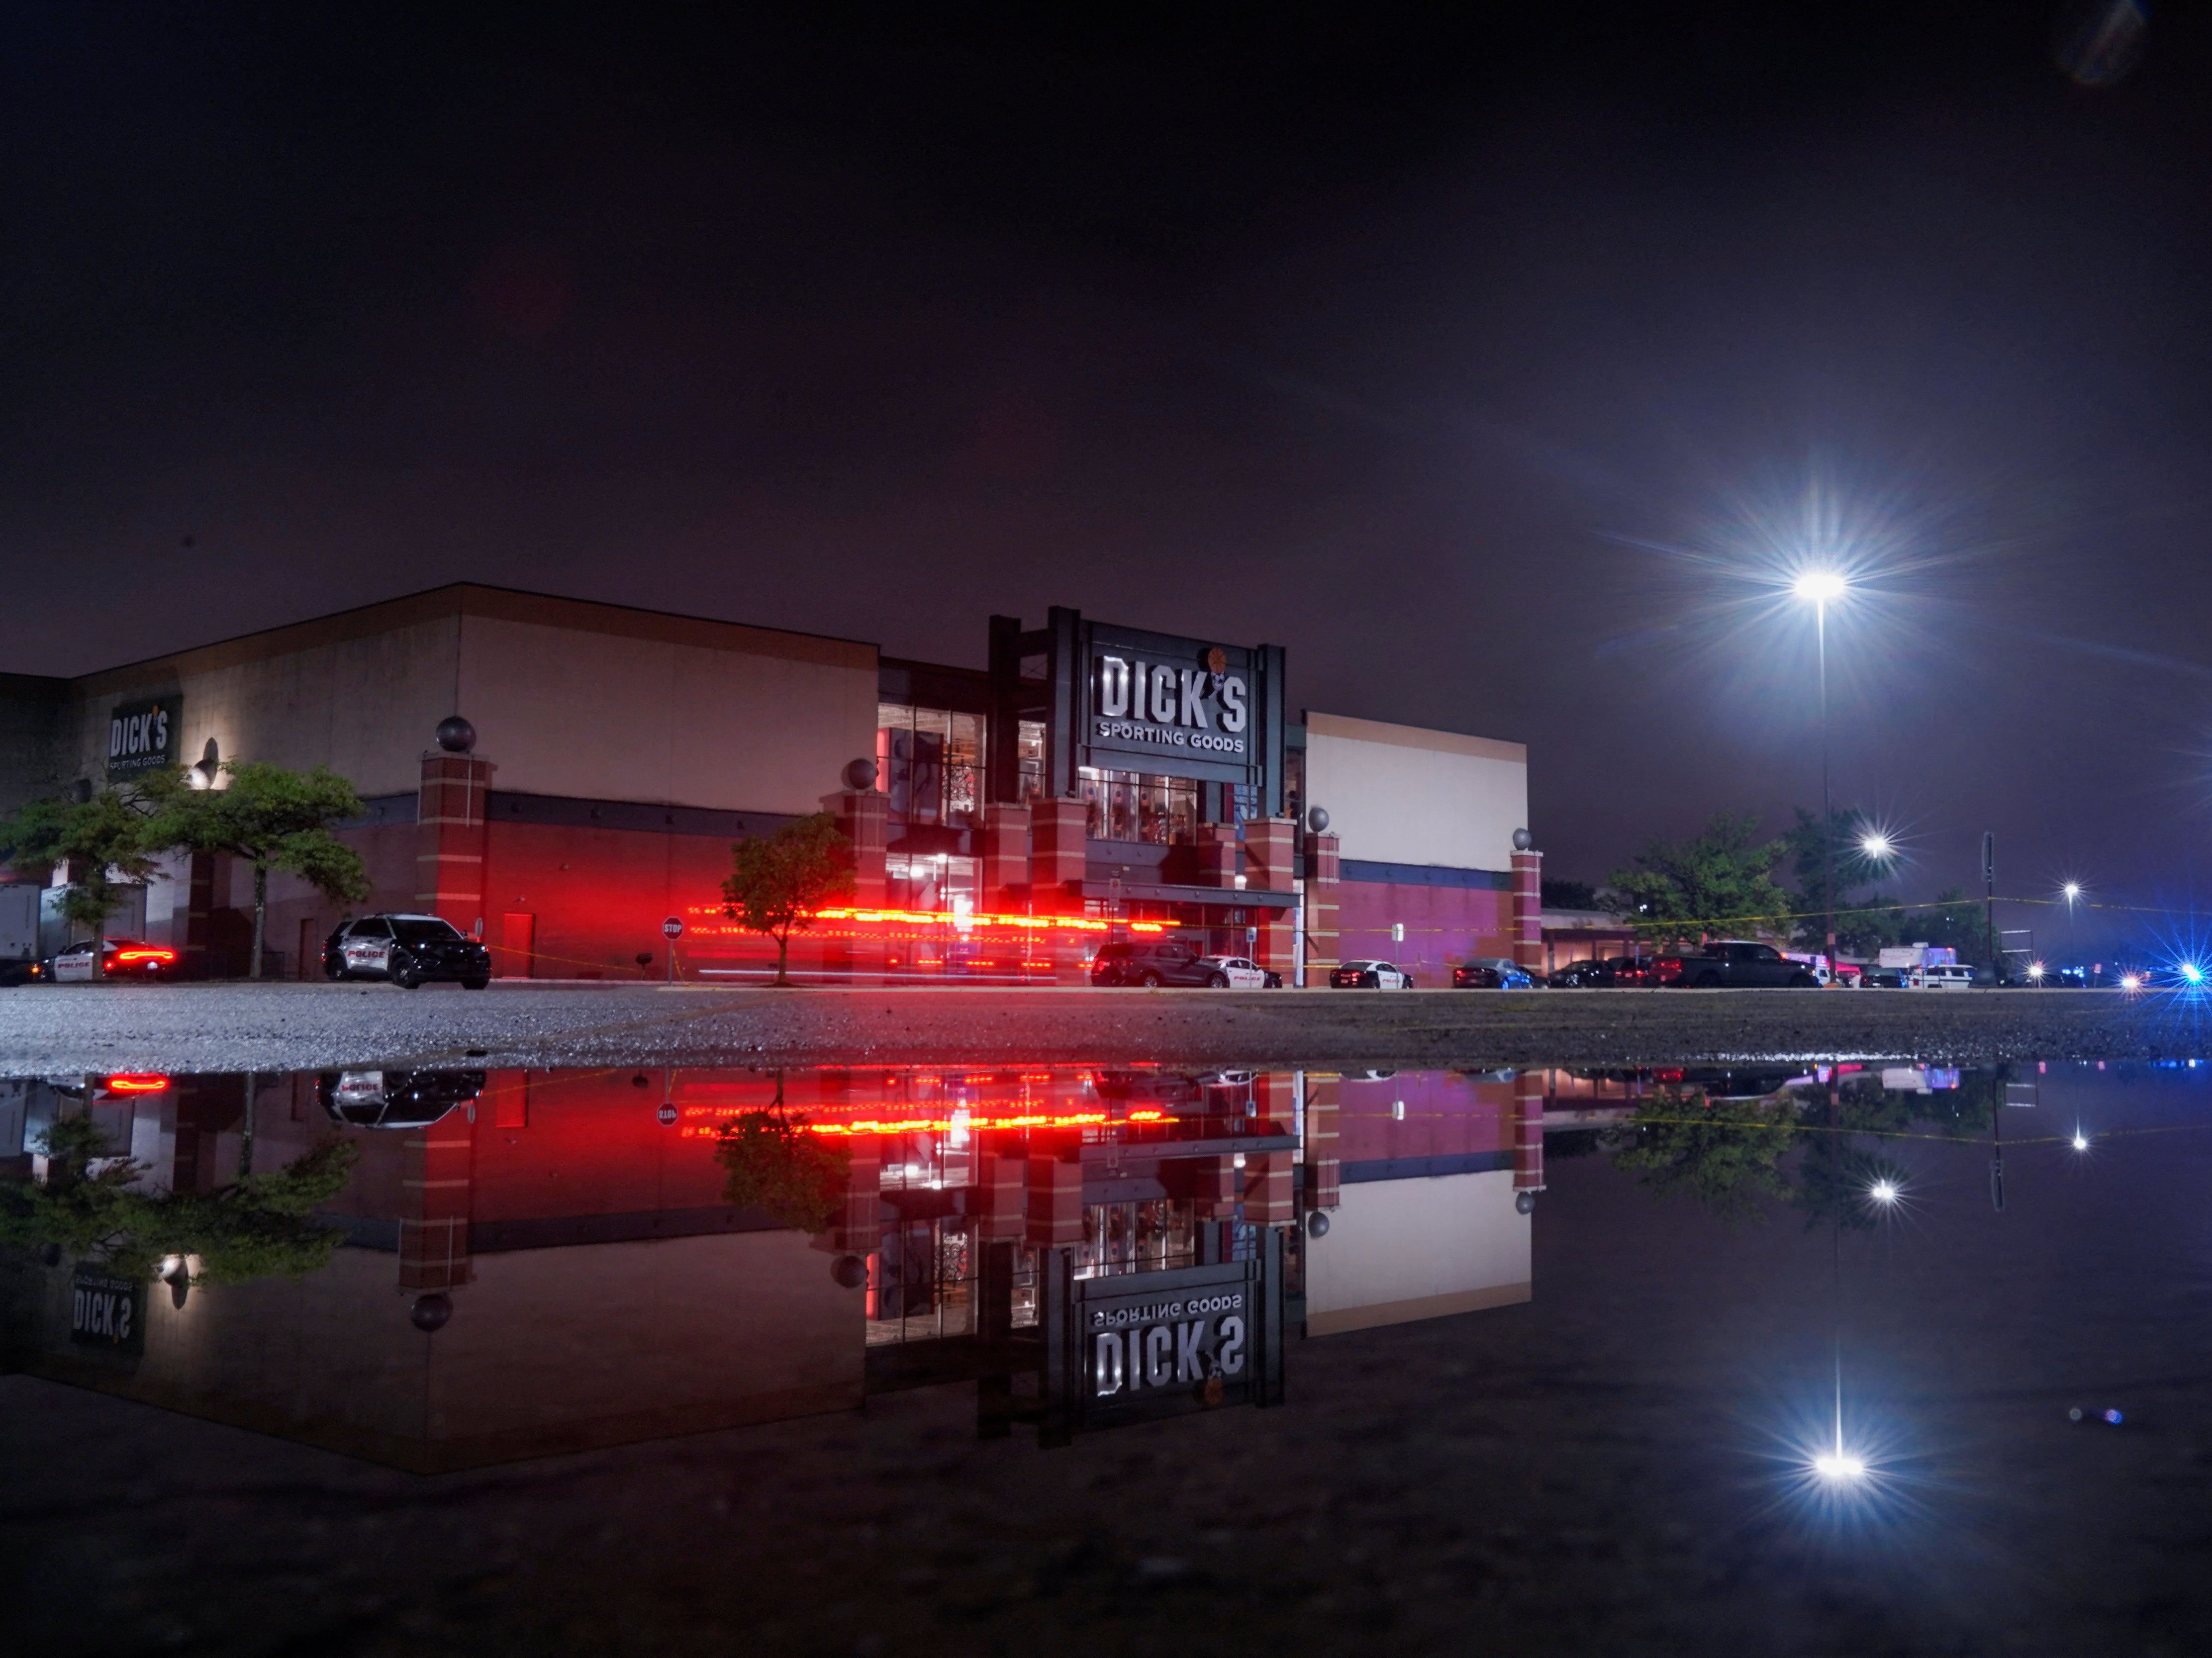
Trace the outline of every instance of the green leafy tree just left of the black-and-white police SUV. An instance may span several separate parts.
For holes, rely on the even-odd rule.
[[[190,787],[181,769],[148,780],[155,814],[146,833],[157,847],[226,851],[252,867],[254,953],[248,975],[259,979],[272,869],[299,875],[334,904],[369,895],[361,853],[332,833],[334,825],[358,818],[367,807],[354,785],[327,765],[292,772],[265,760],[223,760],[223,778],[219,789]]]

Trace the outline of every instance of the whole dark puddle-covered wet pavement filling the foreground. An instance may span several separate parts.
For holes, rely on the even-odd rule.
[[[2201,1651],[2208,1114],[2188,1063],[22,1079],[0,1627]]]

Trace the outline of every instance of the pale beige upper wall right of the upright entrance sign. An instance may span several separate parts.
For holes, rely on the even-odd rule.
[[[1307,712],[1305,800],[1327,809],[1345,858],[1511,869],[1528,747]]]

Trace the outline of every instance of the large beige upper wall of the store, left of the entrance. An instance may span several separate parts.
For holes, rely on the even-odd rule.
[[[876,747],[876,648],[451,586],[88,674],[75,776],[106,776],[117,703],[181,692],[177,756],[330,765],[411,794],[462,712],[495,789],[814,811]]]

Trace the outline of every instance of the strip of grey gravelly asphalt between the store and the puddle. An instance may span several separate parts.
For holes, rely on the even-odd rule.
[[[1139,1061],[1635,1066],[2212,1057],[2212,999],[2117,990],[770,990],[29,986],[0,1074],[327,1066]]]

